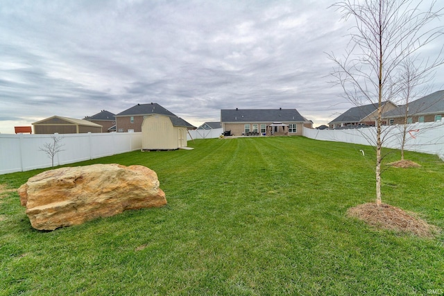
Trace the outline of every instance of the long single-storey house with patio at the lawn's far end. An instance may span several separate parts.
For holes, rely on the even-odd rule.
[[[302,135],[302,127],[313,128],[296,109],[221,110],[224,134],[240,135]]]

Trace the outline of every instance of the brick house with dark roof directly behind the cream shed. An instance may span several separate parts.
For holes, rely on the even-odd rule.
[[[117,132],[142,132],[142,123],[144,122],[144,119],[153,114],[178,118],[178,116],[169,112],[157,103],[137,104],[115,115],[116,130]],[[187,128],[194,129],[196,127],[187,123]]]

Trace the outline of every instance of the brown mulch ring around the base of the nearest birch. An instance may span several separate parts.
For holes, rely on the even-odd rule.
[[[376,228],[415,234],[420,237],[432,238],[439,232],[438,227],[429,225],[425,220],[389,204],[382,204],[380,207],[373,202],[359,204],[348,209],[347,214]]]

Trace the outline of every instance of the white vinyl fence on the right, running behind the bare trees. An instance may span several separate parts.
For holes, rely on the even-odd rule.
[[[400,149],[403,125],[382,127],[382,146]],[[304,128],[304,136],[321,141],[339,141],[375,146],[376,128],[350,130],[313,130]],[[444,121],[407,125],[404,150],[438,155],[444,160]]]

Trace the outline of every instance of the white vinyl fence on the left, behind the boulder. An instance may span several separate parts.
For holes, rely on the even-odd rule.
[[[51,158],[40,148],[60,137],[61,151],[54,166],[126,153],[142,148],[142,132],[87,134],[0,134],[0,175],[51,167]]]

